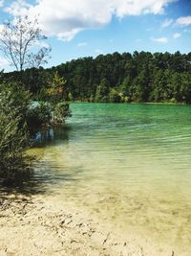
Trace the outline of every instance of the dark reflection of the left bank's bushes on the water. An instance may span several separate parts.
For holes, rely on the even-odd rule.
[[[23,173],[19,172],[11,178],[0,178],[0,192],[22,194],[49,193],[46,184],[57,183],[56,180],[58,179],[62,181],[74,179],[71,175],[64,174],[58,178],[57,175],[54,175],[53,170],[49,168],[49,164],[47,165],[46,161],[42,158],[44,147],[57,144],[57,140],[60,143],[68,140],[69,130],[70,127],[66,126],[56,129],[50,128],[49,130],[36,133],[32,138],[33,148],[28,151],[28,160],[32,168],[27,169]]]

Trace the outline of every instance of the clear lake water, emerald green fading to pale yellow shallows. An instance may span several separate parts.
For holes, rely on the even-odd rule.
[[[34,179],[121,232],[138,230],[189,255],[191,106],[71,107],[66,127],[35,149]]]

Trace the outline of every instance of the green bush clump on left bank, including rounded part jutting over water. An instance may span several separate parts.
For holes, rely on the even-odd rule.
[[[32,105],[32,95],[21,83],[0,84],[0,178],[10,180],[30,175],[30,136],[42,128],[63,123],[70,115],[69,105],[40,103]]]

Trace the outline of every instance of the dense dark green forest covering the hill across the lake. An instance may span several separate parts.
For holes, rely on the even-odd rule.
[[[114,53],[2,77],[22,81],[38,100],[43,98],[47,78],[55,73],[67,81],[70,101],[191,103],[191,53]]]

